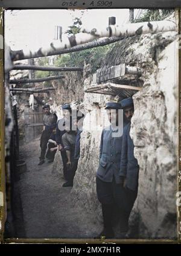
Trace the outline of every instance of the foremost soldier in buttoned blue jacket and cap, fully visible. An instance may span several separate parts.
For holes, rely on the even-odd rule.
[[[96,178],[97,196],[98,200],[102,205],[104,223],[104,229],[99,237],[114,237],[112,220],[113,208],[115,208],[115,203],[118,206],[119,210],[119,194],[122,191],[121,178],[119,176],[119,167],[122,149],[123,118],[121,122],[118,122],[118,114],[120,114],[119,110],[121,108],[121,104],[119,103],[106,104],[106,110],[111,125],[109,126],[109,129],[103,129],[101,135],[100,163],[97,170]],[[114,109],[114,115],[112,109]],[[116,120],[116,122],[114,122],[113,119]],[[114,133],[117,133],[118,131],[121,132],[119,133],[119,136],[116,136],[116,134]]]

